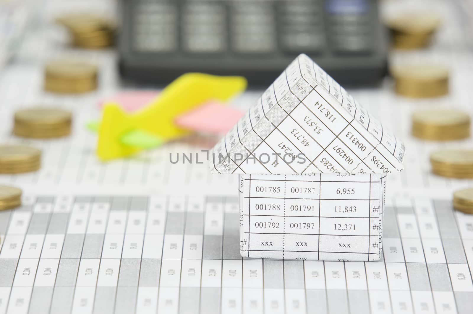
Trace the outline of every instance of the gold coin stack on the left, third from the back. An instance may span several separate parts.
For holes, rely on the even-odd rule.
[[[49,139],[70,134],[72,117],[58,108],[29,108],[15,113],[13,133],[27,138]]]

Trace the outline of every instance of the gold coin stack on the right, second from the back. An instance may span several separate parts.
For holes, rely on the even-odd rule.
[[[428,98],[448,93],[448,69],[433,64],[405,64],[391,68],[394,91],[402,96]]]

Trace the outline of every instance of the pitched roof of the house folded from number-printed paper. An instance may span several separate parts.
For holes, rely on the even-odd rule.
[[[389,174],[404,144],[307,55],[299,55],[210,155],[212,173]]]

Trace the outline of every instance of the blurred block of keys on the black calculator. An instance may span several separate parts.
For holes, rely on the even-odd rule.
[[[372,49],[364,0],[137,2],[133,38],[134,49],[140,52],[316,53],[329,47],[335,53],[363,53]],[[347,5],[348,10],[341,9]]]

